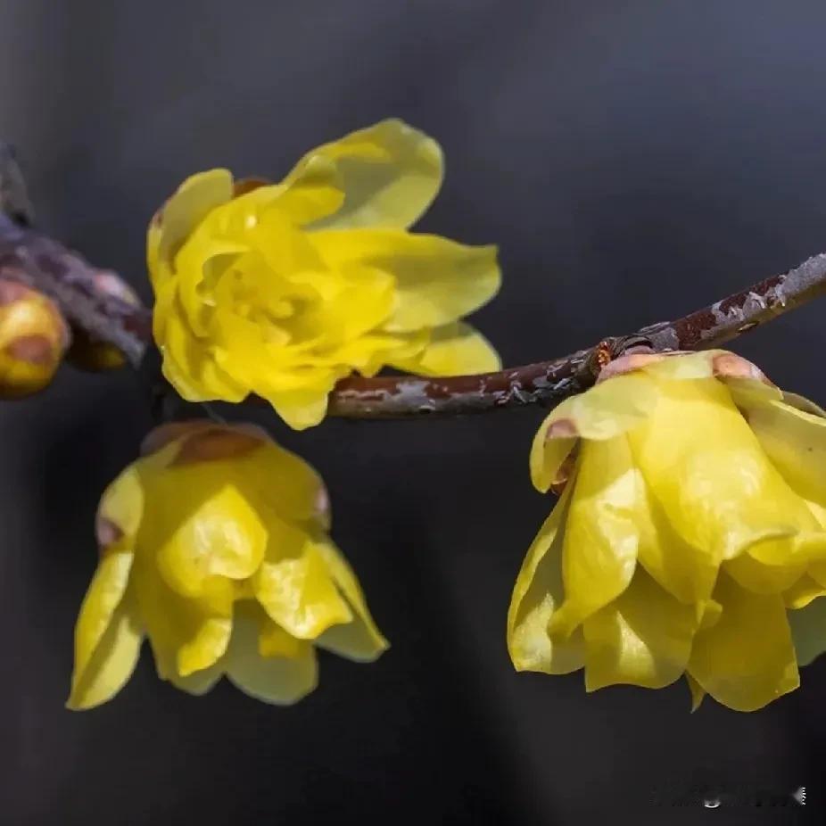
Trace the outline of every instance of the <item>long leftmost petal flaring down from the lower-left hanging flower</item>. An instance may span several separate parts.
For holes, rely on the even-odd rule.
[[[135,667],[141,633],[134,612],[121,607],[132,562],[131,553],[105,554],[89,584],[75,625],[70,708],[112,698]]]

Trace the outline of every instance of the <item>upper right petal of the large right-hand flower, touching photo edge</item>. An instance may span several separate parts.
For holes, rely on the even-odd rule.
[[[786,482],[826,504],[826,418],[772,401],[750,407],[748,425]]]

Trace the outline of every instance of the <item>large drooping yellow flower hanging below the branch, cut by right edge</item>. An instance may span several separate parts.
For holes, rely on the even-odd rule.
[[[508,612],[520,671],[586,690],[682,674],[752,711],[826,649],[826,413],[724,351],[617,359],[545,419],[564,491]]]

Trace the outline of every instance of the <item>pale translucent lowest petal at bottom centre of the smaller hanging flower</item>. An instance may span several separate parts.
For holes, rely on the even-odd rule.
[[[301,640],[293,657],[262,657],[260,632],[268,627],[268,622],[260,607],[237,605],[226,656],[227,677],[253,698],[279,706],[290,705],[318,684],[316,652],[310,642]]]

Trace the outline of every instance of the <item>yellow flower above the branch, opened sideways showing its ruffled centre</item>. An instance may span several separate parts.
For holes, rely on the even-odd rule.
[[[408,231],[441,184],[439,145],[401,120],[319,146],[279,184],[187,178],[147,239],[164,375],[188,401],[255,393],[300,429],[353,370],[499,369],[461,320],[499,289],[496,248]]]

